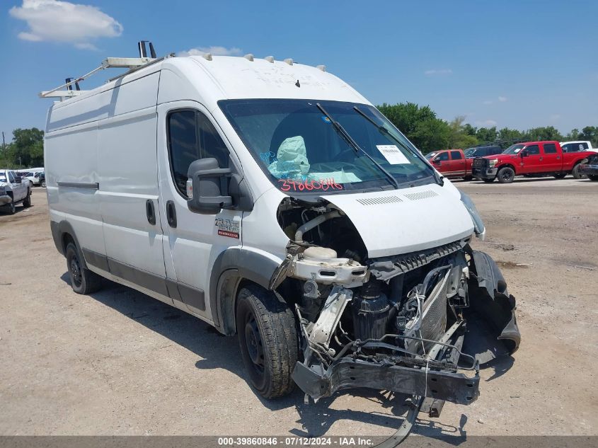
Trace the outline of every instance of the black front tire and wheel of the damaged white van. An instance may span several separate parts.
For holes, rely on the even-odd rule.
[[[264,398],[289,394],[298,351],[289,306],[270,291],[243,287],[237,297],[236,331],[250,384]]]

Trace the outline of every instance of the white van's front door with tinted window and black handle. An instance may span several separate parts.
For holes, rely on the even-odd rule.
[[[227,248],[241,247],[242,212],[191,212],[185,184],[190,163],[197,159],[213,157],[220,168],[237,162],[212,115],[200,103],[185,100],[158,105],[158,120],[159,209],[168,287],[176,289],[171,292],[176,306],[213,321],[209,303],[212,266]]]

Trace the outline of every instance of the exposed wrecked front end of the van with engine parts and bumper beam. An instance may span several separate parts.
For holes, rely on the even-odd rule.
[[[291,242],[270,287],[297,314],[293,379],[306,396],[389,390],[434,416],[444,401],[475,401],[481,364],[517,350],[514,297],[469,238],[368,258],[350,219],[322,198],[287,197],[277,219]]]

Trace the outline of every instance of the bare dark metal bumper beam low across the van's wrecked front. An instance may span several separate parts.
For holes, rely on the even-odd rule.
[[[345,357],[325,374],[297,362],[292,377],[306,394],[317,400],[341,389],[366,387],[399,394],[427,396],[457,404],[469,404],[479,396],[480,377],[462,373],[415,369]]]

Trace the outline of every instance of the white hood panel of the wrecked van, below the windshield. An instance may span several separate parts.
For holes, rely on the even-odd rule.
[[[369,258],[434,248],[473,234],[459,196],[436,184],[322,197],[347,214]]]

